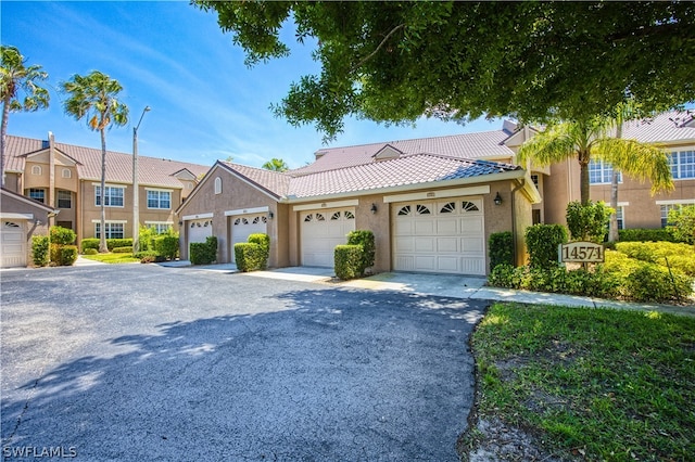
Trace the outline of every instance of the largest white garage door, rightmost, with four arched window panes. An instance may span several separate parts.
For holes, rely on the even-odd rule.
[[[393,204],[393,268],[485,274],[482,198]]]

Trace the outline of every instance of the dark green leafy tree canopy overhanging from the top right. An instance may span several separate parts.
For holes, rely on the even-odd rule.
[[[386,124],[482,115],[522,121],[695,101],[693,2],[219,2],[224,31],[254,65],[313,38],[320,75],[274,105],[328,138],[355,116]]]

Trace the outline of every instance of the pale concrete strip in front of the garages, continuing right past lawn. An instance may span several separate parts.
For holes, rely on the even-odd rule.
[[[233,264],[191,266],[190,261],[168,261],[159,264],[165,267],[190,267],[203,271],[237,272]],[[489,287],[484,277],[456,274],[422,274],[407,272],[383,272],[364,279],[341,281],[336,279],[332,268],[290,267],[267,271],[240,273],[249,278],[267,278],[286,281],[301,281],[334,284],[342,287],[367,288],[372,291],[410,292],[421,295],[438,295],[452,298],[470,298],[498,301],[515,301],[535,305],[559,305],[568,307],[612,308],[635,311],[659,311],[672,315],[695,317],[695,305],[673,306],[606,300],[577,295],[548,294],[541,292],[516,291],[513,288]]]

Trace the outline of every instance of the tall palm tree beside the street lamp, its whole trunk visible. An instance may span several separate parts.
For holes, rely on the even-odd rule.
[[[99,233],[99,252],[109,252],[106,247],[106,128],[113,125],[124,126],[128,123],[128,106],[118,101],[118,93],[123,90],[117,80],[112,79],[99,70],[92,70],[87,76],[75,74],[73,78],[63,82],[63,91],[70,98],[63,102],[65,113],[77,120],[87,118],[87,126],[91,130],[99,130],[101,134],[101,226]]]

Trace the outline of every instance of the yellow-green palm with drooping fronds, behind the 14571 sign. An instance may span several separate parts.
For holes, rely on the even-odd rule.
[[[576,157],[580,165],[580,198],[590,202],[589,163],[601,159],[640,181],[652,181],[652,193],[673,189],[666,152],[654,144],[610,136],[615,121],[607,117],[554,124],[526,141],[518,162],[549,166]]]

